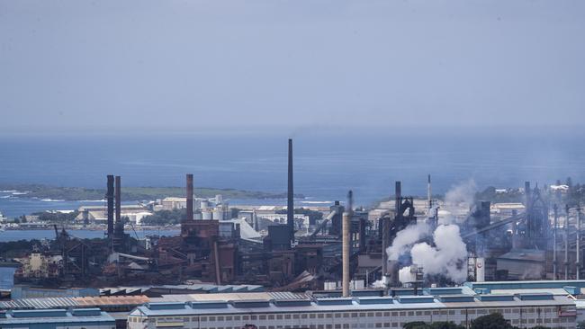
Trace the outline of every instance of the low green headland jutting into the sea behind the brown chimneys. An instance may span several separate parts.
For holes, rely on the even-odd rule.
[[[103,200],[105,189],[87,189],[83,187],[58,187],[41,184],[0,184],[0,190],[27,191],[27,198],[52,200]],[[212,198],[221,194],[229,199],[282,199],[286,193],[263,191],[244,191],[235,189],[195,188],[195,195]],[[123,200],[153,200],[165,197],[184,197],[184,187],[122,187]],[[295,197],[302,198],[301,194]]]

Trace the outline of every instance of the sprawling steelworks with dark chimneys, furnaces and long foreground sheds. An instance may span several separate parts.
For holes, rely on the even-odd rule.
[[[562,188],[526,182],[521,203],[491,204],[466,191],[439,199],[428,175],[426,199],[403,195],[395,182],[373,209],[355,207],[346,191],[346,200],[307,215],[294,206],[292,139],[287,172],[282,209],[230,209],[220,196],[211,205],[195,197],[187,173],[184,199],[157,202],[184,209],[180,233],[146,239],[125,228],[121,176],[107,175],[104,238],[55,226],[54,241],[15,259],[0,325],[42,312],[136,329],[469,327],[493,312],[521,327],[579,320],[581,208],[563,204]],[[116,308],[114,296],[133,299]],[[112,310],[117,319],[104,313]]]

